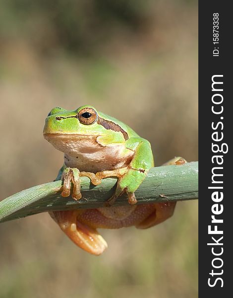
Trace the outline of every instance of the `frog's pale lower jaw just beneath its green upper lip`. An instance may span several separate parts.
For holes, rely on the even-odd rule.
[[[44,138],[56,149],[68,154],[96,152],[103,148],[97,142],[99,136],[78,134],[44,134]]]

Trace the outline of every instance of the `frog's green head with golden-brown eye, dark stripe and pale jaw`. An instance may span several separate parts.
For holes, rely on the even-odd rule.
[[[73,111],[56,107],[45,120],[43,134],[62,152],[90,153],[127,140],[127,133],[115,122],[89,105]]]

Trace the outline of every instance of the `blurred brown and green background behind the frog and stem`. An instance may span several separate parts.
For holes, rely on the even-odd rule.
[[[157,165],[197,157],[197,1],[0,0],[0,199],[52,181],[55,106],[91,104],[148,139]],[[0,224],[0,298],[196,298],[197,201],[82,251],[48,214]]]

